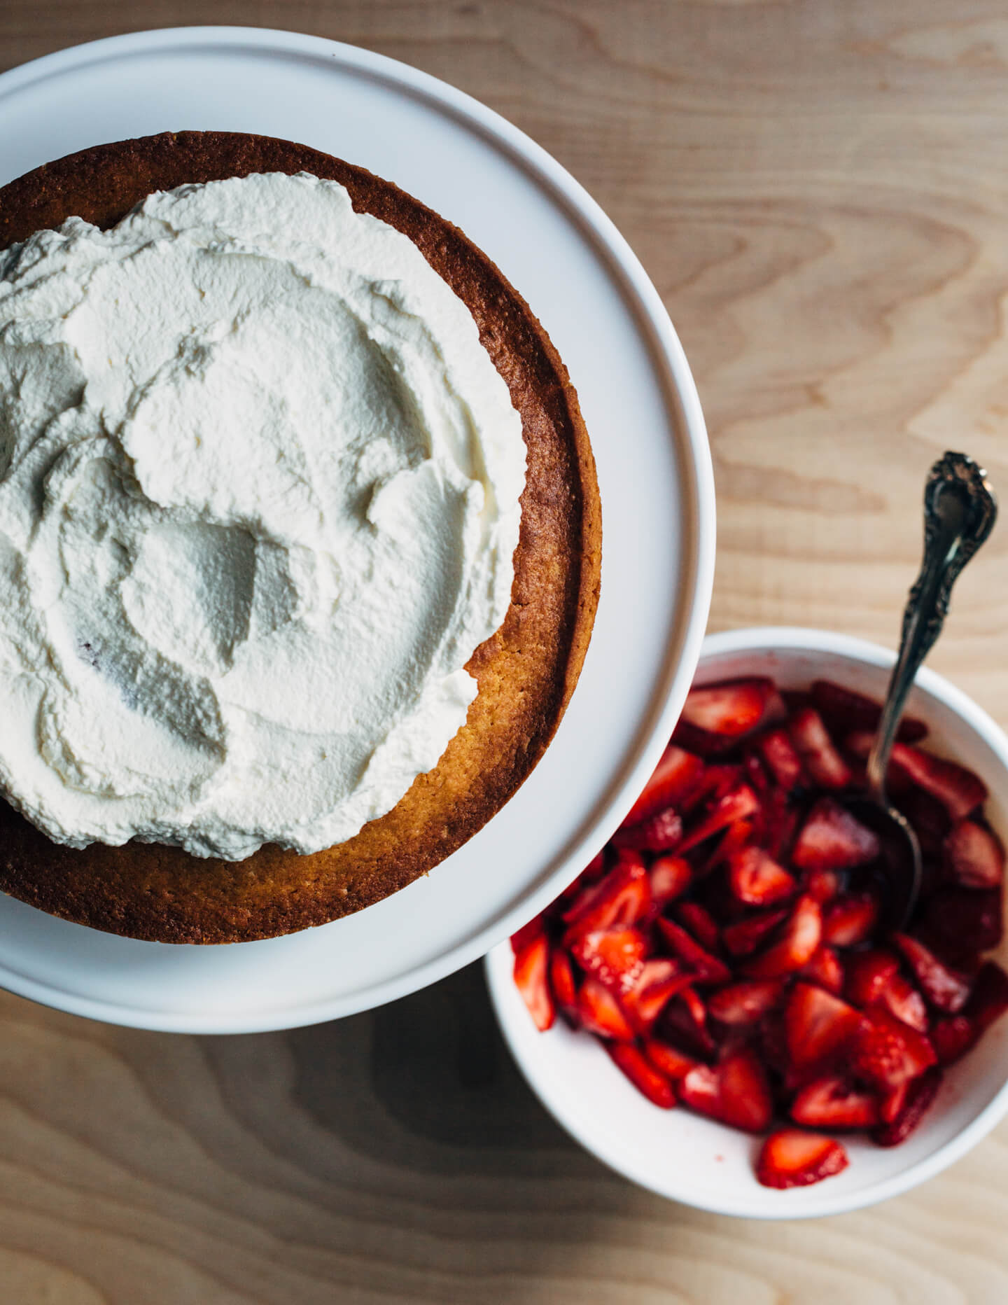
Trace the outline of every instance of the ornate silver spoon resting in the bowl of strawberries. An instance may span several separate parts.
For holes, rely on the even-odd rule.
[[[885,771],[906,696],[948,612],[960,572],[991,532],[998,502],[986,472],[965,453],[947,453],[925,483],[925,555],[902,617],[900,652],[892,668],[882,718],[867,761],[867,793],[850,795],[846,806],[882,843],[887,881],[885,924],[902,929],[921,890],[921,846],[909,821],[885,796]]]

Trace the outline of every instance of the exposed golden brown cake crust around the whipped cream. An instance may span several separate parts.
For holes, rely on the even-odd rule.
[[[244,861],[179,848],[51,842],[0,801],[0,889],[52,915],[162,942],[237,942],[325,924],[381,900],[471,838],[528,776],[576,684],[599,599],[601,510],[567,371],[524,300],[450,222],[364,168],[304,145],[180,132],[99,145],[0,188],[0,249],[78,215],[119,222],[153,191],[250,172],[313,172],[408,235],[468,305],[522,415],[528,475],[511,607],[468,663],[479,681],[438,766],[346,843]],[[473,869],[473,873],[479,873]]]

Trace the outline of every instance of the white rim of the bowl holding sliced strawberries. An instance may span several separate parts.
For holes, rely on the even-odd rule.
[[[838,634],[832,630],[820,630],[806,626],[746,626],[734,630],[722,630],[708,634],[703,641],[700,660],[696,673],[704,671],[704,662],[733,652],[746,652],[758,650],[781,651],[823,651],[849,656],[852,660],[867,663],[870,666],[889,668],[896,662],[896,652],[867,639],[849,634]],[[996,722],[979,707],[961,689],[957,689],[949,680],[922,667],[914,680],[914,685],[930,694],[939,702],[951,707],[971,729],[991,748],[998,761],[1008,771],[1008,735]],[[889,1178],[882,1178],[855,1191],[841,1191],[831,1195],[828,1190],[812,1189],[815,1191],[815,1208],[795,1210],[773,1206],[773,1193],[767,1190],[767,1205],[762,1207],[760,1199],[746,1198],[743,1201],[711,1199],[705,1194],[692,1194],[675,1182],[664,1188],[655,1184],[649,1174],[642,1172],[632,1158],[617,1155],[614,1150],[605,1146],[605,1141],[595,1135],[588,1135],[580,1128],[579,1121],[571,1121],[563,1111],[558,1094],[554,1092],[550,1075],[540,1065],[539,1058],[529,1061],[528,1047],[537,1045],[516,1036],[516,1019],[526,1015],[524,1005],[515,1005],[516,989],[511,977],[511,944],[503,940],[484,958],[484,975],[490,994],[490,1004],[497,1017],[498,1026],[503,1034],[505,1043],[518,1065],[522,1075],[545,1105],[553,1118],[579,1142],[586,1151],[601,1160],[609,1168],[622,1173],[639,1186],[655,1191],[666,1199],[678,1201],[696,1210],[705,1210],[711,1214],[730,1215],[741,1219],[820,1219],[829,1215],[849,1214],[854,1210],[863,1210],[867,1206],[888,1201],[891,1197],[901,1195],[910,1189],[935,1177],[947,1169],[956,1160],[960,1160],[978,1142],[1008,1114],[1008,1075],[995,1096],[979,1111],[974,1118],[955,1137],[939,1146],[930,1155],[923,1156],[917,1163]],[[600,1054],[604,1054],[600,1048]]]

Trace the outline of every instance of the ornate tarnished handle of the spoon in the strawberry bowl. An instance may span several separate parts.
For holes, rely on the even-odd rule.
[[[868,787],[879,796],[885,790],[885,769],[906,694],[941,633],[952,586],[998,515],[986,475],[965,453],[947,453],[931,467],[925,484],[925,556],[906,600],[900,655],[867,763]]]

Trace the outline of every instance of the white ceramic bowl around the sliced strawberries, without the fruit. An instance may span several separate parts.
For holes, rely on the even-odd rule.
[[[806,629],[749,629],[704,641],[696,683],[771,675],[784,688],[818,677],[882,697],[893,652],[861,639]],[[923,669],[908,710],[928,727],[927,746],[975,770],[990,788],[986,806],[1001,839],[1008,835],[1008,739],[948,680]],[[1008,839],[1005,839],[1008,840]],[[1008,945],[998,959],[1005,964]],[[497,1018],[511,1053],[554,1118],[587,1150],[644,1188],[719,1214],[802,1219],[841,1214],[906,1191],[952,1164],[1008,1112],[1008,1018],[945,1073],[938,1100],[902,1144],[844,1139],[849,1168],[810,1188],[760,1186],[752,1163],[760,1138],[724,1128],[691,1111],[661,1111],[631,1087],[597,1041],[561,1022],[533,1026],[511,979],[509,942],[485,960]]]

